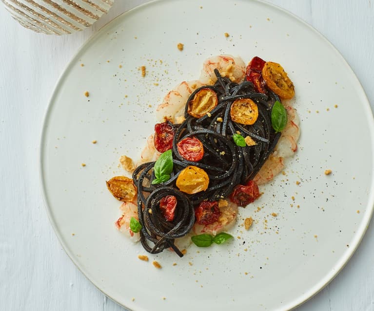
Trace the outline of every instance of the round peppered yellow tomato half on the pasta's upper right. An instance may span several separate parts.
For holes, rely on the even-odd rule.
[[[230,115],[231,120],[236,123],[251,125],[258,118],[258,108],[252,99],[236,99],[231,105]]]

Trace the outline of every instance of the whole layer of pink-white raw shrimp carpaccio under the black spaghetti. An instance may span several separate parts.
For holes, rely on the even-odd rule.
[[[183,81],[166,94],[162,103],[160,103],[156,109],[157,122],[163,123],[165,121],[170,121],[176,125],[181,124],[185,120],[185,107],[186,104],[188,104],[191,94],[198,88],[214,85],[217,81],[215,69],[218,70],[222,77],[230,79],[233,84],[241,83],[245,79],[248,80],[248,77],[246,78],[246,74],[248,74],[246,65],[240,57],[234,57],[233,55],[217,55],[210,57],[203,62],[198,80]],[[260,75],[260,71],[256,74]],[[258,185],[272,181],[276,175],[284,169],[286,159],[292,157],[297,151],[297,141],[300,136],[300,120],[297,111],[288,101],[284,101],[282,104],[287,113],[287,123],[285,128],[281,131],[281,136],[273,153],[268,157],[253,179]],[[207,114],[209,115],[209,113]],[[218,119],[219,118],[217,118],[217,121]],[[220,119],[222,120],[222,118]],[[147,139],[146,146],[141,152],[138,165],[156,161],[160,154],[161,153],[155,148],[154,135],[152,134]],[[191,244],[191,236],[199,234],[215,236],[220,232],[230,230],[236,223],[238,205],[230,201],[229,198],[222,198],[218,200],[218,208],[220,215],[217,221],[207,225],[198,224],[196,222],[190,233],[182,238],[175,239],[177,248],[187,248]],[[134,234],[129,227],[131,217],[138,219],[136,202],[123,202],[120,209],[122,215],[116,222],[118,230],[126,234],[133,241],[138,241],[140,238],[139,234]]]

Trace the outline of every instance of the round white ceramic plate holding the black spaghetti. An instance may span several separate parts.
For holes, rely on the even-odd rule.
[[[79,269],[131,310],[291,309],[340,271],[372,215],[373,117],[348,64],[279,8],[220,2],[161,0],[116,18],[71,61],[46,115],[41,176],[52,224]],[[141,245],[114,226],[119,204],[105,180],[124,173],[121,155],[139,157],[166,92],[198,78],[203,60],[220,53],[282,64],[295,83],[299,149],[285,175],[241,209],[231,232],[240,239],[140,261]],[[247,216],[256,220],[249,231],[239,226]]]

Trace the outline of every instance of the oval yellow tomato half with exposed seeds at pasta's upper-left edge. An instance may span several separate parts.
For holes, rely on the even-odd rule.
[[[204,88],[198,91],[194,98],[188,102],[187,113],[195,118],[201,118],[218,105],[217,93]]]

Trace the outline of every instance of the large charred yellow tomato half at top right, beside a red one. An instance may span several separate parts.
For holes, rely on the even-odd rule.
[[[280,98],[291,99],[295,95],[294,83],[290,80],[283,67],[268,61],[262,68],[262,77],[270,90]]]

